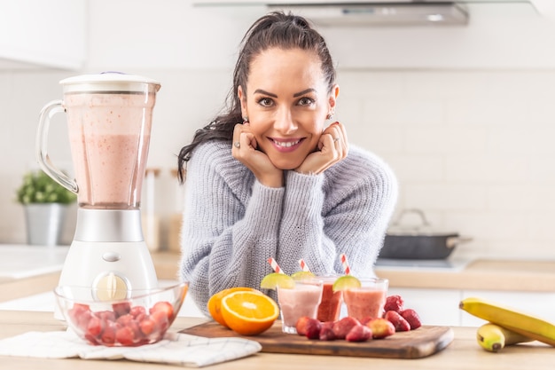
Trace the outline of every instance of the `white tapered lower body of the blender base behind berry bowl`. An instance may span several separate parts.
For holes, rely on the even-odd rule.
[[[97,287],[98,281],[113,273],[127,289],[158,287],[158,278],[145,241],[79,241],[71,243],[59,286]],[[64,319],[58,306],[56,319]]]

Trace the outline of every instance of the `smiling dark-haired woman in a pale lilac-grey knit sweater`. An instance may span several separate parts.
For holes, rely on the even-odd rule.
[[[247,31],[227,114],[178,159],[180,174],[187,167],[180,271],[205,313],[224,288],[260,288],[270,257],[285,273],[302,258],[331,274],[343,272],[345,253],[355,276],[373,273],[396,181],[374,155],[348,150],[340,122],[325,127],[338,94],[330,53],[307,20],[272,12]]]

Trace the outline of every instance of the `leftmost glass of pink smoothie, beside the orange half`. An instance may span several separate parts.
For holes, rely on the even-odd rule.
[[[316,319],[318,305],[322,300],[323,281],[303,279],[295,281],[294,287],[277,286],[277,303],[281,310],[284,333],[297,334],[297,321],[303,317]]]

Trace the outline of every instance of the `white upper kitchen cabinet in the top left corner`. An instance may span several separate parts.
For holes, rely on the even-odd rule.
[[[81,68],[87,0],[0,2],[0,69]]]

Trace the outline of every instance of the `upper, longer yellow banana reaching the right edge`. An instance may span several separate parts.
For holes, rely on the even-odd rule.
[[[515,311],[480,298],[465,298],[458,307],[480,319],[488,320],[520,335],[555,346],[555,325],[526,313]]]

